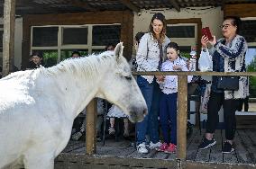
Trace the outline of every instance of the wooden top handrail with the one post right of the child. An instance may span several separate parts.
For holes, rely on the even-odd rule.
[[[256,72],[154,71],[133,72],[133,76],[178,76],[177,158],[187,156],[187,76],[256,76]]]

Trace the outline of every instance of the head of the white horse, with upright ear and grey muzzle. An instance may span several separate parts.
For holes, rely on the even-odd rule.
[[[147,105],[136,83],[131,68],[123,57],[123,43],[114,49],[114,64],[108,67],[98,96],[117,105],[133,122],[142,121],[147,113]]]

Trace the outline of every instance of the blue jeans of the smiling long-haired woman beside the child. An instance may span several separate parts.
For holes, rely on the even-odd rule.
[[[147,103],[148,114],[142,122],[136,123],[137,145],[145,142],[146,134],[149,134],[152,143],[160,141],[159,138],[159,99],[160,87],[154,80],[151,84],[142,76],[137,77],[137,83],[142,91],[142,95]]]

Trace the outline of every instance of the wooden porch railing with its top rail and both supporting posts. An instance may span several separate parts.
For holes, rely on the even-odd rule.
[[[187,76],[256,76],[256,72],[133,72],[133,76],[178,76],[177,158],[186,159]],[[96,100],[87,105],[87,154],[96,152]]]

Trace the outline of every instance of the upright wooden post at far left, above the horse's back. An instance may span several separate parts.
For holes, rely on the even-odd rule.
[[[3,77],[13,71],[14,66],[15,0],[5,0],[3,35]]]

